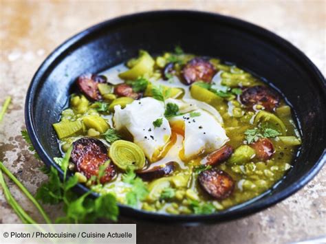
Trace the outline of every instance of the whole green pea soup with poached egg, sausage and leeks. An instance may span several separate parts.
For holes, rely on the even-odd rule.
[[[261,195],[291,166],[292,108],[260,78],[175,52],[82,74],[53,124],[69,170],[125,205],[210,214]]]

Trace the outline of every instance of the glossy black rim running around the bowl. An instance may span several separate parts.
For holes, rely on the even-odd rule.
[[[135,19],[141,18],[151,18],[154,16],[166,16],[169,14],[184,14],[188,16],[195,16],[198,19],[210,18],[211,21],[220,21],[223,24],[234,25],[235,27],[241,28],[246,32],[251,32],[254,35],[258,35],[261,38],[265,38],[265,40],[272,41],[274,44],[279,45],[279,47],[283,49],[287,49],[287,52],[291,52],[292,55],[301,62],[304,63],[304,66],[309,68],[309,73],[314,74],[314,79],[318,82],[320,89],[323,91],[324,95],[326,94],[326,85],[325,78],[318,70],[318,68],[312,63],[300,49],[292,45],[289,41],[286,41],[284,38],[266,30],[263,27],[258,25],[254,25],[247,21],[243,21],[241,19],[237,19],[232,16],[225,16],[222,14],[217,14],[214,12],[202,12],[202,11],[194,11],[194,10],[157,10],[157,11],[148,11],[148,12],[137,12],[135,14],[127,14],[118,16],[114,19],[109,19],[107,21],[103,21],[87,29],[75,34],[71,38],[67,39],[67,41],[63,42],[61,45],[56,47],[54,51],[45,58],[39,69],[34,74],[30,86],[28,88],[27,96],[25,99],[25,124],[28,134],[30,135],[31,142],[36,150],[36,153],[41,157],[42,162],[44,162],[47,166],[54,166],[56,170],[59,171],[61,177],[63,177],[63,171],[61,168],[54,162],[54,160],[47,155],[47,152],[43,148],[39,138],[36,135],[36,127],[34,124],[34,116],[33,116],[33,107],[34,107],[34,96],[36,93],[37,87],[39,87],[39,82],[42,80],[42,77],[46,75],[47,69],[51,68],[52,65],[56,65],[56,60],[64,55],[67,52],[67,49],[72,47],[73,45],[78,44],[79,41],[83,40],[83,38],[89,36],[91,33],[94,33],[98,30],[101,30],[102,27],[107,27],[109,25],[114,25],[119,22],[129,22],[135,21]],[[120,214],[122,216],[133,217],[136,219],[145,219],[150,221],[160,221],[160,222],[172,222],[172,223],[217,223],[221,221],[229,221],[232,219],[239,219],[241,217],[248,216],[249,214],[253,214],[255,212],[259,212],[265,208],[273,206],[276,203],[279,203],[283,199],[290,197],[290,195],[294,194],[305,184],[307,184],[312,178],[318,173],[318,171],[323,167],[326,161],[326,149],[324,149],[323,153],[320,155],[316,163],[310,170],[308,170],[305,175],[296,180],[297,184],[292,184],[288,186],[281,192],[276,192],[268,199],[265,199],[263,202],[254,203],[252,206],[248,206],[248,202],[256,201],[257,199],[268,194],[269,190],[264,192],[263,194],[255,197],[254,199],[250,199],[244,203],[241,203],[237,206],[229,208],[228,210],[224,210],[221,212],[216,212],[213,214],[190,214],[190,215],[172,215],[172,214],[162,214],[158,212],[147,212],[145,210],[138,210],[135,208],[131,208],[129,206],[122,205],[118,203],[120,208]],[[280,180],[281,181],[281,180]],[[278,181],[279,182],[279,181]],[[274,187],[277,186],[276,183]],[[82,184],[78,184],[76,186],[76,190],[81,192],[86,192],[89,188],[83,186]],[[92,193],[92,197],[97,197],[98,194]]]

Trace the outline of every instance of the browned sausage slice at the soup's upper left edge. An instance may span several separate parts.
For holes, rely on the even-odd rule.
[[[98,91],[98,83],[105,83],[107,79],[105,76],[98,76],[96,74],[83,74],[77,79],[77,86],[80,91],[91,100],[101,100],[100,91]]]

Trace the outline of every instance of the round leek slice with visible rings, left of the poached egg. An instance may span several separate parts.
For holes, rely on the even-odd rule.
[[[137,144],[118,140],[111,144],[109,157],[122,170],[127,168],[139,170],[145,166],[145,155]]]

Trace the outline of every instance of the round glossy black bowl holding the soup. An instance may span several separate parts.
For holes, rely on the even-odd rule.
[[[60,154],[52,124],[67,104],[74,80],[117,65],[146,49],[152,54],[181,45],[187,52],[217,56],[266,78],[292,104],[303,144],[294,167],[263,195],[223,212],[176,216],[120,205],[135,219],[173,223],[213,223],[252,214],[302,188],[325,163],[325,79],[300,50],[268,30],[239,19],[206,12],[144,12],[105,21],[77,34],[46,58],[36,72],[25,103],[25,122],[36,152],[47,166]],[[80,192],[88,189],[77,187]],[[94,194],[94,196],[96,196]]]

